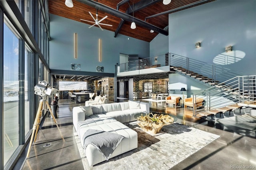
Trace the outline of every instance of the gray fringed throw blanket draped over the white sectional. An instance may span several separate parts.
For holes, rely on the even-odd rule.
[[[108,160],[123,138],[124,136],[116,133],[88,129],[82,138],[84,140],[83,148],[85,149],[88,144],[92,144]]]

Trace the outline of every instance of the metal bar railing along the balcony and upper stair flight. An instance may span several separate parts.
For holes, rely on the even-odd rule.
[[[234,59],[230,59],[230,56],[226,57],[226,55],[218,56],[216,59],[214,59],[214,61],[217,63],[223,63],[224,61],[226,63],[230,63],[231,60],[234,61]],[[212,65],[174,53],[166,53],[164,55],[148,57],[116,65],[116,73],[166,65],[183,68],[187,73],[196,73],[198,75],[207,77],[212,83],[223,82],[236,76],[246,75],[245,73],[239,71],[220,67],[218,65]]]

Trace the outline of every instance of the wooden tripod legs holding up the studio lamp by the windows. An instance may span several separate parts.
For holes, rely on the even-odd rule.
[[[36,138],[37,138],[37,134],[38,134],[38,128],[40,127],[40,118],[42,117],[42,110],[43,110],[42,108],[43,108],[44,103],[46,103],[46,106],[47,106],[47,108],[49,109],[49,111],[52,115],[52,119],[53,119],[54,123],[56,124],[58,130],[60,131],[60,128],[57,124],[57,121],[56,121],[56,119],[55,119],[55,117],[52,113],[52,109],[51,109],[49,103],[46,101],[45,96],[43,96],[43,99],[40,100],[40,104],[39,104],[39,107],[38,107],[38,110],[37,110],[37,113],[36,113],[36,119],[34,121],[34,125],[33,125],[33,128],[32,128],[33,132],[32,132],[31,138],[30,138],[30,144],[29,144],[29,147],[28,147],[27,158],[28,158],[29,152],[31,150],[31,146],[32,146],[32,143],[33,143],[33,138],[34,138],[34,142],[36,142]],[[61,135],[63,141],[66,142],[64,140],[63,136],[62,136],[61,131],[60,131],[60,135]]]

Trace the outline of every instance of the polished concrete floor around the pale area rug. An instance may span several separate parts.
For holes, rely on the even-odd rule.
[[[226,169],[256,169],[256,137],[255,131],[246,133],[246,130],[223,128],[217,121],[202,120],[192,117],[189,108],[166,106],[165,102],[150,102],[150,111],[170,113],[178,118],[178,123],[192,126],[220,135],[220,138],[208,144],[192,156],[186,158],[172,169],[194,170],[226,170]],[[68,101],[59,101],[57,123],[60,131],[50,117],[46,117],[42,130],[34,146],[26,158],[27,150],[22,153],[14,169],[22,170],[82,170],[83,165],[74,139],[72,124],[72,108],[76,106]],[[245,112],[247,112],[245,110]],[[243,114],[244,111],[241,111]],[[224,115],[224,117],[236,116]],[[223,119],[222,117],[220,117]],[[223,130],[225,129],[225,130]],[[245,128],[246,129],[246,128]],[[229,130],[229,131],[226,131]],[[244,133],[243,133],[244,132]],[[61,133],[66,142],[61,138]],[[238,134],[240,133],[240,134]],[[48,144],[48,146],[46,146]],[[179,153],[174,153],[179,154]],[[163,155],[164,159],[164,155]],[[106,167],[106,169],[112,169]]]

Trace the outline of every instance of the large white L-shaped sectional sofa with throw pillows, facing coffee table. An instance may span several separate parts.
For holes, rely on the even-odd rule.
[[[103,130],[122,135],[124,138],[112,153],[110,157],[112,158],[138,147],[137,132],[122,124],[136,121],[134,115],[137,113],[149,113],[149,103],[128,101],[74,107],[73,124],[82,146],[84,145],[82,140],[83,134],[88,129]],[[86,147],[85,153],[90,166],[106,160],[101,152],[92,144]]]

